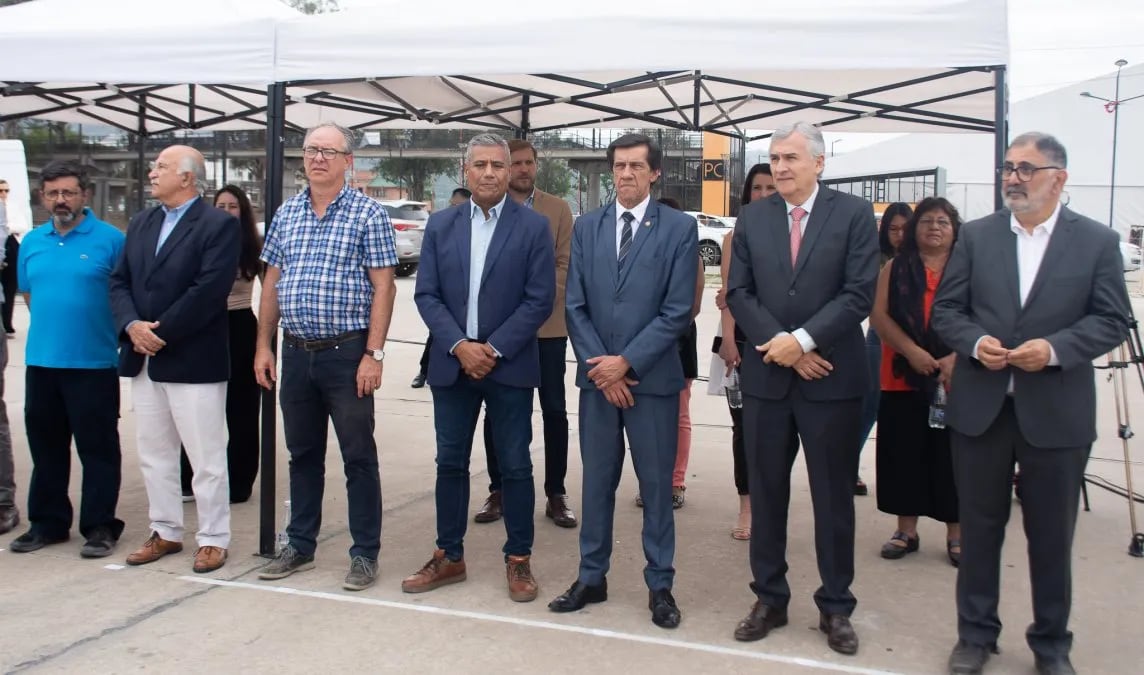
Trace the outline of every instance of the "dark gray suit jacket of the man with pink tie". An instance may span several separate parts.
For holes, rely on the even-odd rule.
[[[865,199],[819,185],[797,264],[779,194],[744,207],[734,228],[726,304],[747,336],[739,371],[745,394],[777,400],[796,386],[810,400],[858,398],[869,382],[861,323],[877,281],[877,225]],[[764,364],[752,346],[804,328],[834,370],[805,381],[793,368]]]

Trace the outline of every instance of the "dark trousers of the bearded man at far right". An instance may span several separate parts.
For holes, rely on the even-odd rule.
[[[1012,506],[1014,462],[1020,463],[1020,513],[1028,540],[1033,624],[1028,646],[1048,658],[1072,649],[1072,541],[1091,446],[1033,447],[1020,435],[1012,400],[980,436],[952,434],[961,516],[958,635],[992,644],[1001,634],[998,597],[1001,546]]]

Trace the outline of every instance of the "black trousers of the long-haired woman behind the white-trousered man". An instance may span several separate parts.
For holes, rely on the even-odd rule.
[[[230,321],[230,380],[227,382],[227,469],[230,476],[230,501],[251,499],[259,475],[259,410],[262,389],[254,379],[254,349],[259,320],[249,309],[228,312]],[[182,453],[183,492],[191,493],[194,471]]]

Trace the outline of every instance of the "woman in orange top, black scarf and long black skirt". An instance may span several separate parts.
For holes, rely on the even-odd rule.
[[[923,199],[898,255],[877,278],[871,312],[882,338],[877,508],[898,516],[883,558],[917,550],[920,516],[946,523],[946,554],[954,566],[961,558],[950,432],[929,426],[930,403],[938,387],[948,388],[954,359],[930,331],[930,308],[960,224],[958,209],[946,199]]]

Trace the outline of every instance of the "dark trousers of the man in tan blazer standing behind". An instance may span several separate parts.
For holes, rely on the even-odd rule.
[[[540,414],[545,421],[545,494],[565,494],[564,477],[569,472],[569,413],[564,392],[567,338],[539,338],[540,344]],[[485,415],[485,461],[488,462],[488,491],[501,489],[500,464],[496,463],[496,439],[492,422]]]

